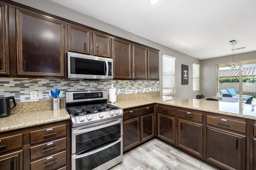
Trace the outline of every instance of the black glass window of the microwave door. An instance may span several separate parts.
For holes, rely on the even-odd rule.
[[[106,75],[106,62],[70,57],[70,73],[85,75]]]

